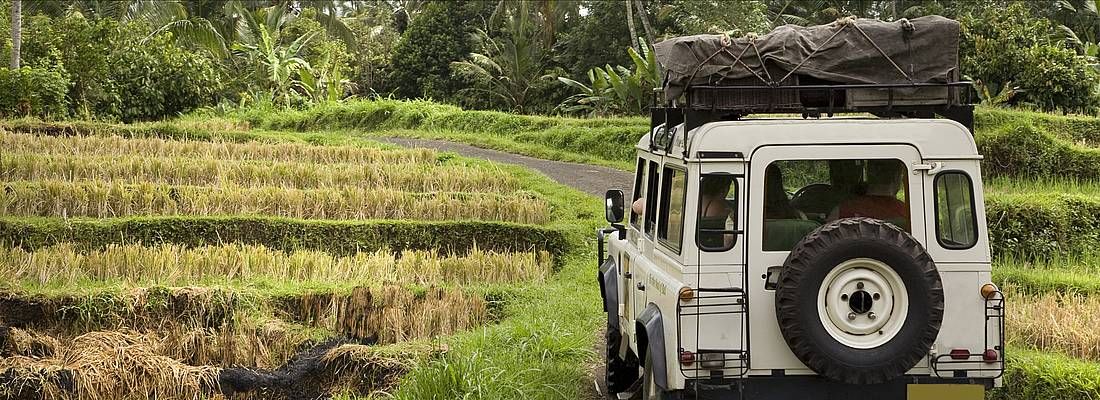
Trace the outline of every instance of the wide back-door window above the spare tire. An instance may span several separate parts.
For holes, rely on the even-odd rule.
[[[817,226],[844,218],[873,218],[909,231],[906,170],[900,159],[769,164],[762,188],[763,251],[790,251]]]

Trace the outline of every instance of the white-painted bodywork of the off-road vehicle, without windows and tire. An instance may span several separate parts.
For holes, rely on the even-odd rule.
[[[768,268],[782,266],[788,252],[762,251],[761,235],[754,234],[762,224],[760,182],[765,167],[774,160],[892,158],[910,167],[911,232],[936,263],[945,295],[939,336],[928,358],[910,374],[932,374],[928,360],[954,348],[981,352],[1002,340],[996,329],[987,329],[990,324],[985,315],[987,302],[979,295],[981,286],[991,279],[991,255],[979,167],[981,156],[963,125],[948,120],[915,119],[745,120],[707,123],[686,135],[682,130],[683,125],[671,130],[668,151],[651,152],[650,134],[644,135],[637,145],[638,156],[645,159],[647,168],[656,163],[662,168],[682,168],[688,174],[680,251],[670,249],[629,222],[625,240],[612,237],[608,242],[609,254],[619,265],[618,322],[626,338],[620,353],[640,354],[635,320],[646,307],[658,307],[663,318],[668,360],[663,373],[670,389],[684,388],[685,380],[694,377],[680,369],[681,348],[744,348],[749,354],[745,376],[774,375],[777,370],[784,375],[813,374],[784,342],[776,320],[774,291],[765,289]],[[701,158],[701,152],[721,152],[727,156]],[[932,163],[938,163],[932,170],[922,167]],[[736,227],[745,233],[737,236],[729,251],[710,253],[696,246],[694,216],[698,214],[698,177],[717,171],[736,177]],[[937,242],[933,185],[935,174],[943,171],[963,171],[972,181],[978,237],[970,248],[949,249]],[[645,179],[642,185],[647,185]],[[646,192],[645,187],[634,189]],[[660,203],[660,199],[652,200]],[[747,319],[717,315],[695,320],[697,324],[680,321],[678,292],[684,287],[743,287],[748,300]],[[978,364],[976,369],[981,369]],[[992,377],[997,371],[978,374],[970,377]]]

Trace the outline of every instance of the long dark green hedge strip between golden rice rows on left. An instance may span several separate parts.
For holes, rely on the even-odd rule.
[[[108,244],[187,246],[245,243],[332,254],[388,248],[462,254],[474,246],[497,252],[547,251],[556,258],[568,234],[550,227],[475,221],[307,221],[278,218],[0,219],[0,243],[34,249],[62,242],[88,248]]]

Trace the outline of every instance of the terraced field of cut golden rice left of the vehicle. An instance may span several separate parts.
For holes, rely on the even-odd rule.
[[[348,142],[0,131],[0,398],[393,393],[561,269],[543,178]]]

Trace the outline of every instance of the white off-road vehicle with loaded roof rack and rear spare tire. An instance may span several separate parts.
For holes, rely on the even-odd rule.
[[[921,34],[957,37],[952,23],[792,27],[813,45],[773,69],[769,36],[712,37],[738,57],[728,66],[760,68],[758,85],[707,69],[722,57],[698,52],[702,36],[657,46],[666,97],[638,141],[630,198],[607,192],[600,232],[613,397],[979,400],[1000,385],[1004,299],[974,109],[959,100],[968,84],[919,77],[906,58],[932,52],[913,44]],[[881,43],[895,33],[909,48]],[[792,67],[849,34],[902,81],[837,79],[853,63]],[[957,54],[949,37],[930,42]],[[690,76],[669,62],[673,46],[695,52]],[[769,113],[801,118],[748,118]],[[855,114],[821,118],[834,113]]]

